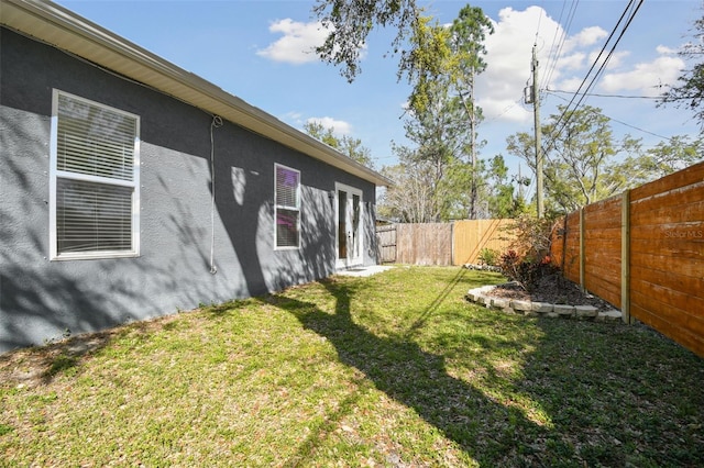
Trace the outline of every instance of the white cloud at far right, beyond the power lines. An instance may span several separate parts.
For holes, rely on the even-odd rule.
[[[605,75],[600,87],[608,92],[639,91],[656,97],[662,93],[660,86],[674,83],[684,67],[681,58],[661,55],[652,62],[639,63],[630,70]]]

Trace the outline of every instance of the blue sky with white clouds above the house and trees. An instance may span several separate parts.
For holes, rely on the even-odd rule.
[[[299,130],[306,122],[360,138],[376,169],[397,163],[393,144],[408,144],[404,107],[409,85],[397,78],[389,54],[394,30],[375,30],[349,83],[340,69],[311,53],[326,31],[314,16],[315,0],[61,0],[65,8],[217,85]],[[440,24],[454,20],[466,1],[418,0]],[[506,137],[534,132],[525,104],[531,48],[537,45],[541,122],[566,104],[587,75],[627,0],[474,1],[494,23],[485,46],[488,64],[477,77],[476,99],[485,120],[480,157],[503,154],[513,174],[525,163],[506,153]],[[692,112],[658,108],[658,97],[686,66],[676,54],[691,40],[702,0],[646,0],[618,43],[593,94],[583,104],[612,119],[615,135],[642,138],[645,147],[675,135],[698,134]],[[619,30],[620,31],[620,30]],[[609,43],[609,44],[613,44]],[[559,53],[556,53],[559,47]],[[610,47],[609,47],[610,48]]]

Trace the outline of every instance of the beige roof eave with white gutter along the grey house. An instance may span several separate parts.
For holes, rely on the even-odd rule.
[[[47,1],[0,0],[0,23],[220,115],[234,124],[340,168],[376,186],[393,182],[324,143],[279,121],[72,11]]]

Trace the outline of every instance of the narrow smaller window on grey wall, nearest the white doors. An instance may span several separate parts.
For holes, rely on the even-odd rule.
[[[298,248],[300,245],[300,172],[275,165],[274,198],[276,199],[277,248]]]

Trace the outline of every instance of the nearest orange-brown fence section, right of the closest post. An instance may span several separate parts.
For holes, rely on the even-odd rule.
[[[704,163],[630,192],[630,314],[704,356]]]

